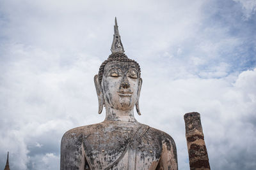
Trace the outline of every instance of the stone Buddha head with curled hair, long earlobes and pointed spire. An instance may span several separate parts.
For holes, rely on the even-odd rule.
[[[106,108],[126,111],[136,110],[139,115],[139,98],[142,79],[140,65],[129,59],[125,53],[115,20],[115,34],[111,46],[111,55],[105,60],[95,75],[94,82],[99,100],[99,113]]]

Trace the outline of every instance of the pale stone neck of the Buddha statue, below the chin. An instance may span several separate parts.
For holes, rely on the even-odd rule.
[[[133,108],[131,110],[116,110],[106,106],[105,109],[106,118],[104,121],[137,122],[134,118]]]

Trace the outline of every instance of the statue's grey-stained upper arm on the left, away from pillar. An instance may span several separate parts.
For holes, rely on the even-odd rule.
[[[76,134],[66,132],[61,139],[60,170],[84,169],[81,141]]]

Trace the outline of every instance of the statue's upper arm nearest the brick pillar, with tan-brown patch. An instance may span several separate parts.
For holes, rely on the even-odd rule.
[[[176,145],[173,139],[170,136],[168,137],[169,138],[166,138],[163,141],[163,149],[156,169],[177,170],[178,163]]]

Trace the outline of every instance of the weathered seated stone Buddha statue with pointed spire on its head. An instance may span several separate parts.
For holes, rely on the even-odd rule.
[[[60,169],[178,169],[172,137],[134,118],[134,106],[141,115],[140,66],[125,55],[116,19],[114,30],[112,53],[94,77],[106,118],[63,135]]]

